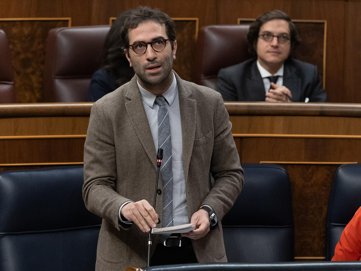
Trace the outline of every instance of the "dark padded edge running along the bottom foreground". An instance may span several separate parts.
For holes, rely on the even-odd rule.
[[[126,271],[135,271],[129,268]],[[139,270],[139,269],[138,269]],[[145,270],[145,269],[144,269]],[[150,266],[146,271],[360,271],[361,262],[190,263]]]

